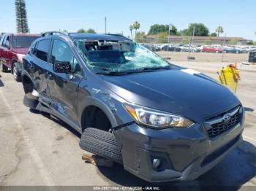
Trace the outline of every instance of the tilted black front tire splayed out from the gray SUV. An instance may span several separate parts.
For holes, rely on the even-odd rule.
[[[86,128],[80,139],[80,148],[116,163],[123,163],[121,151],[113,133],[97,128]]]

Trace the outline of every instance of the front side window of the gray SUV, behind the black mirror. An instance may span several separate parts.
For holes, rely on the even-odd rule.
[[[83,75],[82,69],[80,68],[78,60],[75,58],[75,55],[73,55],[69,46],[61,40],[54,40],[50,60],[53,64],[69,62],[72,66],[72,74],[79,74],[80,76]]]

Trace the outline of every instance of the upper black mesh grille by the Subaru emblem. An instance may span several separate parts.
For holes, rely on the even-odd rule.
[[[219,123],[211,125],[212,128],[207,131],[208,136],[210,138],[214,138],[215,136],[219,136],[222,133],[225,133],[227,130],[230,130],[233,127],[235,127],[238,124],[238,122],[239,122],[239,114],[237,112],[235,115],[233,115],[233,117],[230,118],[229,121],[219,122]]]

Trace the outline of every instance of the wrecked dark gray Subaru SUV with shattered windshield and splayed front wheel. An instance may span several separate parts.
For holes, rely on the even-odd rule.
[[[26,106],[64,120],[82,149],[148,182],[196,179],[242,141],[236,95],[124,36],[43,34],[22,80]]]

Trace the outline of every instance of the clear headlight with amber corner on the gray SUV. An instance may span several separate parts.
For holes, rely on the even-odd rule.
[[[141,106],[124,105],[136,122],[149,128],[188,128],[193,124],[185,117],[146,109]]]

